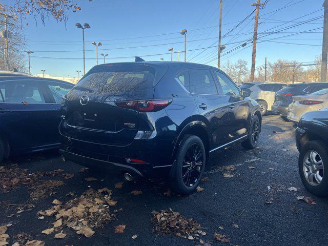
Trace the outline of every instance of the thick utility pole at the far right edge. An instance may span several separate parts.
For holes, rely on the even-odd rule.
[[[321,82],[327,79],[327,56],[328,56],[328,0],[324,0],[323,15],[323,38],[322,38],[322,58],[321,58]]]

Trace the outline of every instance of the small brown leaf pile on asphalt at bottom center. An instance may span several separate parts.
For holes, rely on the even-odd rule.
[[[183,217],[178,212],[173,212],[172,209],[159,212],[153,211],[152,213],[154,214],[151,218],[154,226],[153,232],[156,232],[158,235],[174,234],[178,237],[193,237],[194,239],[204,234],[200,224],[193,219]]]

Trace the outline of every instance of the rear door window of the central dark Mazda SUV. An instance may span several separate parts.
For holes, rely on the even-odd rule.
[[[217,95],[217,89],[210,70],[190,70],[190,80],[194,87],[194,93]]]

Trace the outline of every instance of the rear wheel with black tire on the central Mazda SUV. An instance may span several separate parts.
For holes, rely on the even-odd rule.
[[[194,152],[199,153],[197,161],[191,156]],[[202,140],[195,135],[186,135],[183,137],[175,157],[169,185],[176,193],[190,194],[196,190],[206,165],[206,151]],[[200,165],[199,162],[202,164]]]

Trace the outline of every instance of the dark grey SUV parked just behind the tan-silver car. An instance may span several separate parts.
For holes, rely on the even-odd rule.
[[[283,120],[288,121],[288,107],[293,101],[292,96],[309,95],[325,88],[328,88],[328,83],[302,83],[289,85],[277,91],[271,110],[280,115]]]

